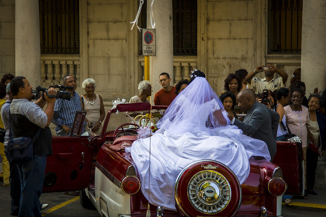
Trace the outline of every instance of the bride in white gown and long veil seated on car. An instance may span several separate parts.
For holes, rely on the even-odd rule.
[[[242,184],[250,172],[250,157],[270,160],[265,142],[242,135],[236,126],[230,126],[222,102],[205,77],[199,70],[192,72],[191,83],[157,122],[159,130],[126,148],[140,174],[142,193],[151,204],[176,211],[176,178],[194,161],[219,161]]]

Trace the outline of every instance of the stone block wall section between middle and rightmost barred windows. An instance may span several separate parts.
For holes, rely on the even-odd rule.
[[[224,79],[253,69],[253,1],[207,2],[207,76],[220,94]]]

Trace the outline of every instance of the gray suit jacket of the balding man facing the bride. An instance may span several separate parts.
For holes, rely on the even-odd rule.
[[[233,125],[241,129],[247,136],[266,142],[270,159],[273,160],[276,154],[279,119],[280,115],[277,112],[256,101],[244,117],[243,122],[235,119]]]

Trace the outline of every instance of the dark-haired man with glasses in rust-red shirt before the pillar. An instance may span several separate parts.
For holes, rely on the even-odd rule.
[[[171,78],[166,72],[159,75],[159,83],[162,85],[162,89],[156,92],[154,97],[154,104],[160,106],[169,106],[174,98],[177,96],[175,94],[175,87],[170,86]]]

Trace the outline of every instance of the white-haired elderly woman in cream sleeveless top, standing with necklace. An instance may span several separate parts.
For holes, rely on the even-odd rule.
[[[90,130],[86,128],[88,132],[99,135],[102,132],[102,121],[104,120],[105,111],[102,97],[98,94],[94,94],[96,82],[93,78],[87,78],[83,81],[82,87],[86,94],[80,97],[82,101],[82,108],[86,111],[85,121],[93,122],[94,127]]]

